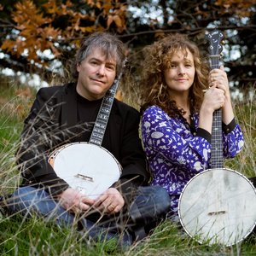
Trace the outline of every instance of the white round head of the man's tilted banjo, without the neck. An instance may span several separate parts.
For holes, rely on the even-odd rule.
[[[122,167],[107,149],[92,143],[69,143],[49,155],[58,177],[95,199],[115,183]]]

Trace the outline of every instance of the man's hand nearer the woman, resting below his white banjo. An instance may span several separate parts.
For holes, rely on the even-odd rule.
[[[124,205],[125,200],[119,191],[109,188],[96,199],[94,207],[104,213],[117,213]]]

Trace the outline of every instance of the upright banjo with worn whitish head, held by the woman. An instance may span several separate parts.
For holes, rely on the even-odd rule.
[[[219,68],[222,32],[207,35],[210,66]],[[183,229],[200,243],[234,245],[256,224],[256,190],[241,173],[223,168],[222,110],[213,113],[211,169],[189,180],[178,202]]]

